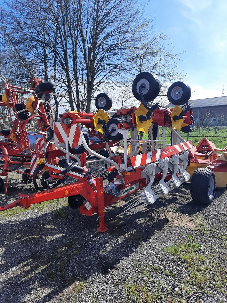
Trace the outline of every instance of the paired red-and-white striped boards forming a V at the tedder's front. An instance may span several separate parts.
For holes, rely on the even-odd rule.
[[[81,145],[84,140],[81,136],[81,130],[78,124],[74,124],[69,128],[65,128],[60,122],[54,123],[54,140],[65,143],[66,138],[71,148]]]

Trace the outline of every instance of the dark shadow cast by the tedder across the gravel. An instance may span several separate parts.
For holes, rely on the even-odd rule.
[[[154,209],[160,207],[158,203],[153,206]],[[116,217],[122,209],[112,206],[106,212],[109,231],[102,234],[96,231],[94,216],[83,216],[69,207],[61,209],[66,213],[65,218],[51,211],[35,218],[1,224],[0,249],[4,252],[0,275],[12,268],[17,273],[0,286],[5,302],[10,302],[7,296],[12,294],[12,289],[22,289],[26,296],[43,285],[54,287],[42,298],[42,301],[50,301],[76,281],[86,280],[96,272],[107,274],[168,221],[147,218],[150,210],[133,217]],[[38,284],[33,285],[37,279]]]

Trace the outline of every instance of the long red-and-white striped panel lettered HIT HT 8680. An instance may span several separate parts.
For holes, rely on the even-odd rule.
[[[158,149],[156,151],[150,151],[148,153],[137,155],[130,157],[133,168],[137,168],[140,166],[144,166],[148,163],[155,162],[156,160],[160,160],[174,154],[178,154],[179,152],[189,150],[193,147],[191,141],[187,141],[184,143],[179,143],[176,145],[168,146],[165,148]]]

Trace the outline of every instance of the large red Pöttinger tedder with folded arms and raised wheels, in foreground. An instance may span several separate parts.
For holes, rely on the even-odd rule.
[[[101,93],[95,99],[96,113],[68,112],[60,122],[48,125],[45,137],[55,150],[40,158],[33,175],[34,186],[41,192],[19,193],[15,202],[0,210],[68,197],[69,205],[80,208],[82,214],[97,213],[97,231],[104,232],[105,207],[141,189],[124,204],[124,213],[137,213],[189,181],[192,199],[197,204],[211,203],[215,187],[227,183],[227,148],[216,149],[207,139],[195,148],[179,135],[179,130],[193,129],[189,85],[178,81],[169,87],[174,109],[154,102],[160,81],[152,73],[139,74],[132,92],[141,102],[139,108],[110,112],[112,98]],[[166,144],[166,127],[171,130],[171,144]],[[100,142],[90,142],[96,137]],[[63,157],[58,163],[49,161],[54,155]]]

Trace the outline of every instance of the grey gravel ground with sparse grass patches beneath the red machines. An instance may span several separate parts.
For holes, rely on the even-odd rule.
[[[226,302],[226,191],[191,200],[185,184],[130,217],[119,201],[106,233],[64,199],[0,212],[0,302]]]

